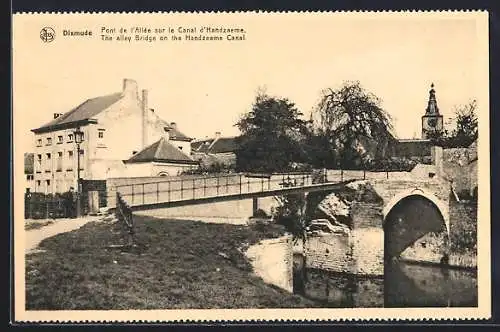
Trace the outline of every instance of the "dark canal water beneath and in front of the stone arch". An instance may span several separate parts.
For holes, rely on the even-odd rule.
[[[383,277],[303,268],[294,255],[294,292],[323,307],[477,307],[474,271],[394,262]]]

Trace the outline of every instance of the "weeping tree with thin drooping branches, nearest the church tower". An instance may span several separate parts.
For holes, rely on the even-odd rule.
[[[330,163],[334,159],[344,168],[359,166],[370,153],[370,158],[383,157],[393,139],[390,115],[357,81],[323,90],[312,121],[316,140],[330,151]]]

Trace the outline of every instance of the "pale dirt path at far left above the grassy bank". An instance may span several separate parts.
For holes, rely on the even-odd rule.
[[[100,220],[103,217],[82,217],[76,219],[59,219],[53,224],[43,226],[39,229],[25,231],[25,253],[36,249],[43,239],[55,236],[60,233],[70,232],[78,229],[88,222]]]

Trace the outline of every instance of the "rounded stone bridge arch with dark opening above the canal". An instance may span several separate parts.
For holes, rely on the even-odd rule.
[[[382,215],[384,255],[387,258],[399,256],[428,233],[446,230],[446,238],[449,239],[448,208],[438,197],[425,190],[415,188],[395,195],[382,210]],[[448,241],[443,242],[446,243]]]

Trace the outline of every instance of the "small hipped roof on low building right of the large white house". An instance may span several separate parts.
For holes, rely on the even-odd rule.
[[[145,147],[143,150],[137,152],[125,163],[142,163],[142,162],[167,162],[175,164],[189,164],[197,165],[198,163],[191,159],[184,152],[170,144],[165,137],[159,141]]]

